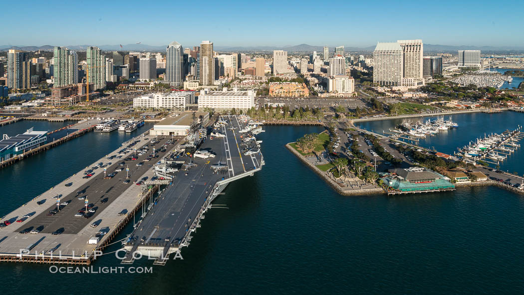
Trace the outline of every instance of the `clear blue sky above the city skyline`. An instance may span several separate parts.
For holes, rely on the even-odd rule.
[[[524,47],[519,1],[21,1],[2,7],[0,45]],[[493,16],[493,17],[492,17]]]

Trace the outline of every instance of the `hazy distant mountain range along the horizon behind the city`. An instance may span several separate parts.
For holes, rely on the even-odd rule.
[[[86,50],[89,46],[96,46],[105,51],[113,50],[125,50],[125,51],[165,51],[167,45],[162,46],[152,46],[147,44],[126,44],[122,45],[72,45],[66,46],[72,50]],[[24,51],[36,51],[36,50],[52,50],[53,46],[44,45],[44,46],[10,46],[10,45],[0,45],[0,51],[7,51],[8,49],[18,49]],[[271,50],[285,50],[289,52],[308,52],[308,51],[317,51],[323,52],[323,46],[312,46],[308,44],[300,44],[295,46],[250,46],[250,47],[238,47],[238,46],[215,46],[216,51],[271,51]],[[368,47],[344,47],[346,52],[348,51],[373,51],[375,46]],[[478,49],[482,51],[522,51],[524,48],[515,48],[508,46],[450,46],[450,45],[432,45],[424,44],[425,52],[456,52],[457,50],[462,49]],[[334,46],[330,46],[330,51],[334,51]]]

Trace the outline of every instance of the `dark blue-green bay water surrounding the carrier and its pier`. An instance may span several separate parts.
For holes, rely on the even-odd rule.
[[[170,260],[147,275],[58,275],[43,265],[1,264],[0,289],[46,294],[524,292],[521,196],[494,187],[397,198],[341,196],[284,147],[319,132],[318,127],[265,129],[258,137],[264,141],[266,166],[226,188],[216,203],[228,209],[206,214],[191,246],[182,250],[184,260]],[[89,141],[84,149],[104,155],[100,146],[109,149],[112,140]],[[71,158],[82,155],[82,150],[69,150]],[[73,168],[43,166],[26,169],[21,177],[52,169]],[[63,176],[51,178],[30,181],[43,189]],[[0,178],[0,184],[2,192],[9,191],[5,185],[13,191],[4,201],[20,204],[32,196],[19,183]],[[0,214],[9,210],[1,206]],[[110,254],[95,266],[120,265]],[[151,261],[134,266],[151,266]]]

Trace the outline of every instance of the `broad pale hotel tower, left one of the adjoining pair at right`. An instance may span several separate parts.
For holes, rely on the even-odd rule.
[[[398,42],[379,42],[373,59],[373,83],[382,86],[400,86],[403,71],[402,47]]]

